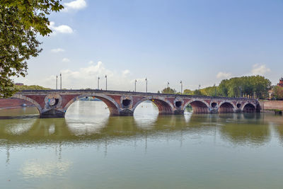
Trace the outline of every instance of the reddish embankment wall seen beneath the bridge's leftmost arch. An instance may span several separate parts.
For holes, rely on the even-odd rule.
[[[34,105],[28,101],[24,101],[18,98],[5,98],[0,99],[0,110],[12,109],[12,108],[23,108],[23,104],[28,107],[33,107]]]

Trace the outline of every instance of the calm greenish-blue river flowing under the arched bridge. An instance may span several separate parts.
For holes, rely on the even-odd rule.
[[[103,102],[77,101],[66,118],[0,117],[1,188],[283,188],[282,116],[158,116],[141,103],[109,117]]]

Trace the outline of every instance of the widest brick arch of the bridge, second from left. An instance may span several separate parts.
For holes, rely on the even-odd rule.
[[[67,112],[67,109],[72,103],[74,103],[75,101],[78,101],[80,98],[86,98],[86,96],[94,96],[100,99],[101,101],[103,101],[103,103],[105,103],[108,106],[110,115],[120,115],[119,113],[120,105],[116,101],[114,101],[113,98],[103,95],[103,94],[96,94],[96,93],[84,93],[79,96],[76,96],[75,98],[71,99],[71,101],[69,101],[67,105],[65,105],[65,107],[63,108],[64,112]]]

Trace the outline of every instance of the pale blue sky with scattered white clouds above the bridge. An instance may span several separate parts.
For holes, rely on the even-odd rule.
[[[15,82],[156,92],[283,75],[283,0],[65,0],[38,36],[42,52]]]

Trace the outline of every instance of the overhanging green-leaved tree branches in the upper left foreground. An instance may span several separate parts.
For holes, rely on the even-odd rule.
[[[48,35],[47,18],[52,11],[64,8],[61,0],[0,1],[0,98],[16,92],[12,76],[26,76],[30,57],[42,51],[36,35]]]

